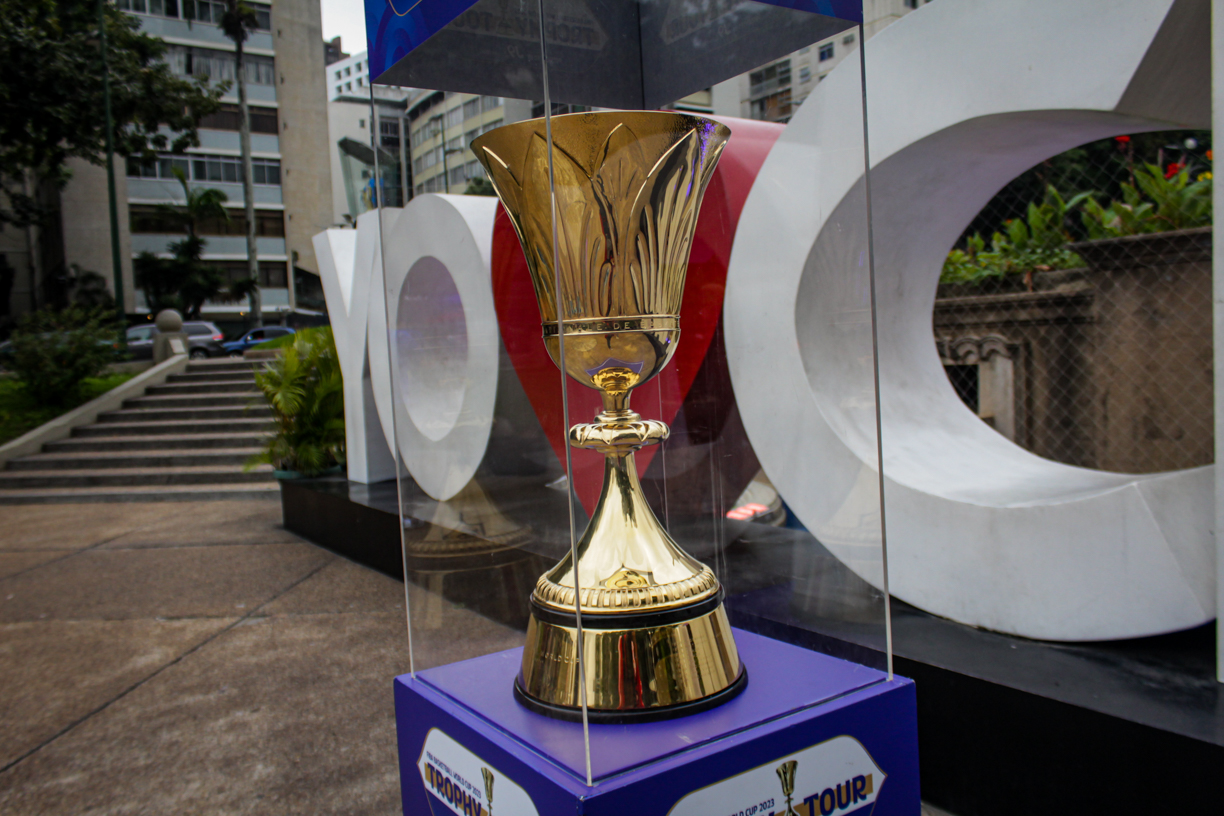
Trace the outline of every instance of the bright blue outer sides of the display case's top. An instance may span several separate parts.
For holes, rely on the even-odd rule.
[[[863,22],[863,0],[755,1]],[[475,4],[476,0],[365,0],[370,78],[377,78]]]

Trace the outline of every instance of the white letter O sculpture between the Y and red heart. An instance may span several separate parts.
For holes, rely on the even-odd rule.
[[[384,287],[377,269],[370,287],[370,371],[383,433],[439,502],[471,481],[493,426],[496,212],[491,197],[417,196],[383,225]]]

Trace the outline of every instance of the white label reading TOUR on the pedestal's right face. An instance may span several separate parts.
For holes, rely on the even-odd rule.
[[[835,736],[694,790],[668,816],[843,816],[870,809],[886,776],[862,743]]]

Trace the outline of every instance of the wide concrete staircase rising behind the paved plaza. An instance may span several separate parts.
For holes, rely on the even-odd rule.
[[[274,498],[272,469],[244,472],[272,429],[251,363],[191,362],[164,385],[0,471],[0,504]]]

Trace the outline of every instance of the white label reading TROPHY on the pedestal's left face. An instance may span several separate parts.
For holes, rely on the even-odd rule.
[[[426,793],[457,816],[540,816],[526,790],[437,728],[425,738],[416,766]]]

